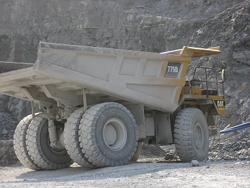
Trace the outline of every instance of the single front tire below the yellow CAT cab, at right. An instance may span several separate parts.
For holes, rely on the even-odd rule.
[[[177,155],[183,162],[205,160],[209,149],[208,125],[197,108],[182,109],[176,116],[174,142]]]

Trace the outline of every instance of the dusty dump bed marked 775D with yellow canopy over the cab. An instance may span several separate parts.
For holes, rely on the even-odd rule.
[[[0,63],[10,67],[0,74],[0,93],[74,107],[83,103],[84,89],[99,100],[171,113],[178,107],[191,58],[216,53],[220,50],[184,47],[158,54],[41,42],[32,67],[20,64],[21,69],[12,70],[12,63]]]

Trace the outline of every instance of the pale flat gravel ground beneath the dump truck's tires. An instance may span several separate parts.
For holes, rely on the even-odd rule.
[[[140,162],[141,161],[141,162]],[[143,161],[143,162],[142,162]],[[167,162],[143,159],[118,167],[32,171],[21,164],[0,167],[0,187],[250,187],[250,161]]]

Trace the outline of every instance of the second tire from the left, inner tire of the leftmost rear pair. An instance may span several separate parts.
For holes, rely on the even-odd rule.
[[[27,150],[30,158],[43,170],[66,168],[73,163],[66,149],[55,150],[50,147],[48,120],[40,115],[28,127]]]

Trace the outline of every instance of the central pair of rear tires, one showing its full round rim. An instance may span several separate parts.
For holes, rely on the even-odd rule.
[[[82,111],[72,113],[65,124],[65,145],[70,157],[87,167],[128,163],[137,150],[138,132],[127,108],[110,102],[92,106],[84,114]]]

